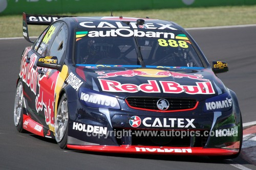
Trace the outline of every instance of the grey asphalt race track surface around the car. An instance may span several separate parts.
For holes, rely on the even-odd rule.
[[[256,27],[189,30],[208,61],[229,64],[219,74],[240,102],[243,122],[256,120]],[[59,149],[57,143],[33,134],[18,133],[13,123],[15,83],[25,39],[0,40],[0,169],[256,169],[239,156],[214,161],[207,157],[100,154]],[[233,165],[230,165],[233,164]]]

